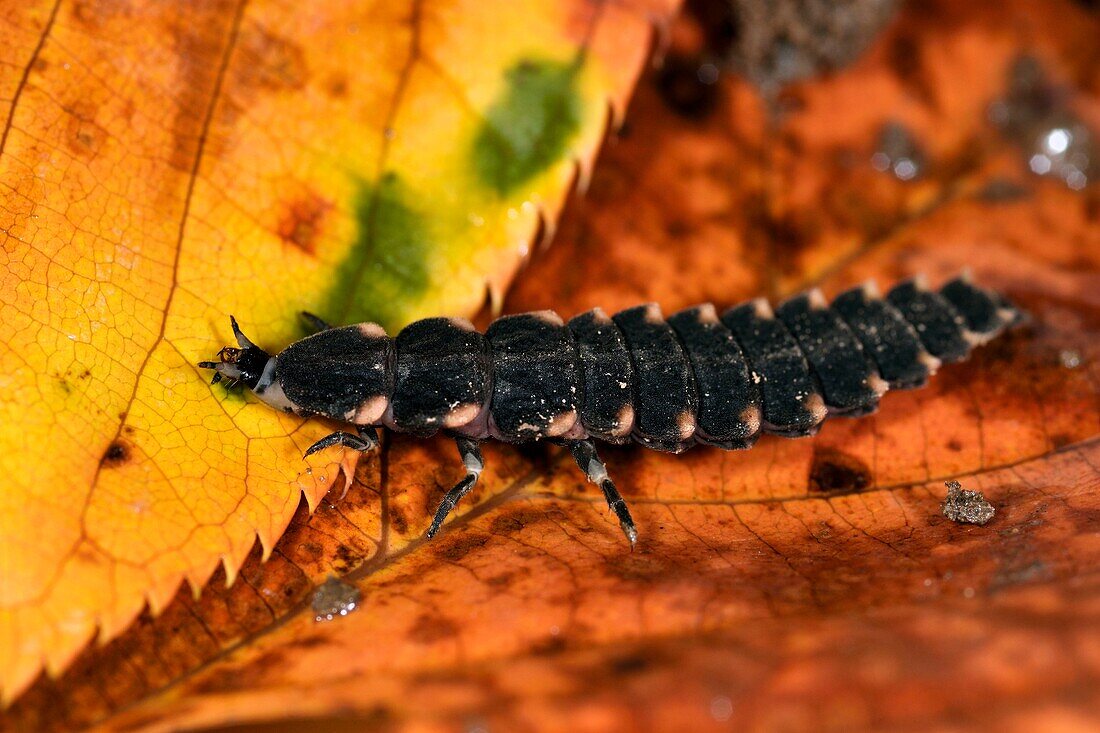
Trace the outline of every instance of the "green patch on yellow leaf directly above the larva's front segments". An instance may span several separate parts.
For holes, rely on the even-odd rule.
[[[416,303],[430,282],[428,258],[432,240],[415,197],[394,173],[355,197],[359,233],[333,274],[332,291],[321,316],[336,325],[381,324],[391,333],[405,324],[407,305]]]

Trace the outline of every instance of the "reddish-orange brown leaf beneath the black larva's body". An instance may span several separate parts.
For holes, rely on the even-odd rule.
[[[770,103],[735,77],[685,95],[654,73],[506,302],[569,316],[656,300],[670,314],[970,267],[1030,313],[1026,327],[813,439],[605,449],[638,523],[632,553],[569,458],[541,446],[487,446],[481,484],[426,541],[460,478],[454,449],[392,436],[342,501],[300,506],[266,562],[253,550],[234,587],[219,571],[199,600],[178,593],[9,719],[1088,730],[1100,198],[1031,173],[1044,136],[1004,134],[988,111],[1026,54],[1057,92],[1041,99],[1100,130],[1098,31],[1069,2],[941,2],[905,9],[854,66]],[[712,61],[701,36],[678,23],[670,63],[693,74]],[[944,517],[948,480],[981,491],[994,518]],[[330,573],[361,599],[319,624],[310,601]]]

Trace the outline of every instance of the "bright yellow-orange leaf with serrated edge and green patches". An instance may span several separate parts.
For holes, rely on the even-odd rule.
[[[668,10],[2,12],[0,699],[185,580],[232,582],[338,481],[301,460],[326,426],[206,383],[229,314],[272,348],[302,309],[394,329],[499,300]],[[193,660],[239,635],[209,623]]]

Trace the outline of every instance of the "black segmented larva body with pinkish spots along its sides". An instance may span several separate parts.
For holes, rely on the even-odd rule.
[[[416,435],[732,449],[760,433],[806,436],[827,415],[872,412],[888,387],[923,384],[941,361],[965,358],[1015,317],[965,278],[939,292],[908,281],[886,298],[864,286],[829,305],[813,292],[721,318],[707,305],[664,319],[650,304],[568,325],[550,311],[507,316],[484,336],[446,318],[392,341],[371,326],[346,327],[293,344],[276,371],[301,412]],[[324,378],[301,387],[326,360]]]

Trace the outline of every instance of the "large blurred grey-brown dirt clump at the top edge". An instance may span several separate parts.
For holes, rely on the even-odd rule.
[[[726,0],[692,3],[710,45],[766,96],[843,68],[898,10],[898,0]]]

